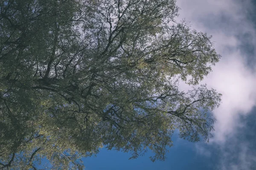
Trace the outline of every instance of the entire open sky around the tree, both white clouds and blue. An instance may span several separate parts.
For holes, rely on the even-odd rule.
[[[208,144],[173,136],[166,161],[151,162],[151,153],[128,160],[128,153],[100,150],[84,158],[86,170],[255,170],[256,169],[256,1],[177,0],[176,20],[212,35],[222,58],[201,82],[222,96],[214,137]],[[180,83],[180,90],[187,90]]]

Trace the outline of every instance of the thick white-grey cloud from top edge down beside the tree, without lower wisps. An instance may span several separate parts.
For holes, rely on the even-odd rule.
[[[235,133],[239,116],[250,113],[256,104],[256,73],[247,66],[247,54],[242,53],[239,34],[250,34],[250,43],[256,45],[256,33],[244,11],[250,1],[243,4],[235,0],[178,0],[179,18],[191,21],[192,28],[211,34],[220,62],[202,83],[223,94],[221,106],[214,111],[215,142],[225,142],[227,134]],[[242,7],[242,8],[241,8]],[[246,9],[245,9],[246,8]]]

